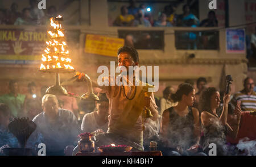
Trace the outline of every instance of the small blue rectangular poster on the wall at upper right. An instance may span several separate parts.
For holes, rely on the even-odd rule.
[[[226,53],[245,53],[245,30],[226,30]]]

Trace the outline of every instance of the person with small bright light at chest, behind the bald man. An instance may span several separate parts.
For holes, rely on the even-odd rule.
[[[41,99],[36,94],[35,82],[28,83],[28,94],[24,101],[24,115],[32,120],[36,115],[42,111]]]

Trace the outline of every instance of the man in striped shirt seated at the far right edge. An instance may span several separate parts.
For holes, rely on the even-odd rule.
[[[256,111],[256,93],[253,90],[255,83],[252,78],[247,77],[243,81],[243,90],[238,91],[232,98],[232,104],[237,105],[241,101],[242,111]]]

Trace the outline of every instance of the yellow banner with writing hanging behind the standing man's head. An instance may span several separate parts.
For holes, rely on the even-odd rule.
[[[124,43],[125,40],[120,38],[88,34],[86,35],[84,51],[86,53],[117,57],[117,51]]]

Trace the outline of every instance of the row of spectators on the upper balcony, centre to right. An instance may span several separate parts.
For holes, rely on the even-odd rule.
[[[189,5],[183,6],[183,13],[176,14],[175,5],[167,5],[159,13],[159,18],[154,20],[151,11],[143,3],[136,6],[135,1],[130,1],[130,6],[122,6],[121,13],[113,22],[113,26],[120,27],[218,27],[215,12],[210,11],[208,18],[200,20],[191,12]]]

